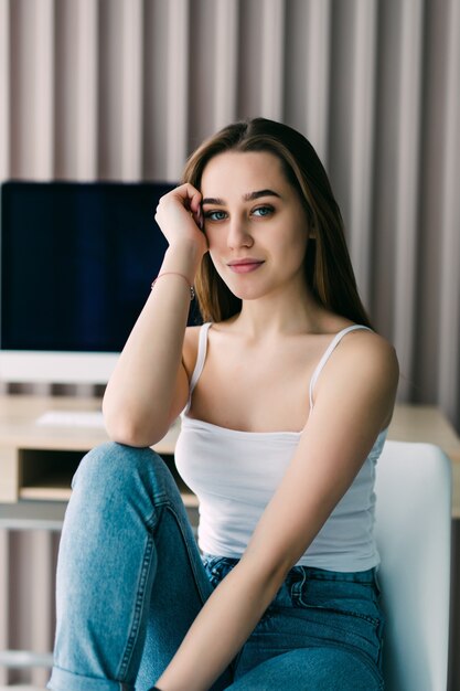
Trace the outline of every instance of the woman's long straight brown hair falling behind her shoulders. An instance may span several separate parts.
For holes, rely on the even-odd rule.
[[[357,293],[339,205],[327,172],[308,139],[287,125],[265,118],[228,125],[192,153],[183,172],[183,182],[200,190],[207,162],[231,150],[267,151],[281,161],[286,178],[299,194],[314,232],[304,258],[311,294],[328,310],[371,326]],[[195,290],[205,321],[223,321],[242,309],[242,300],[227,288],[208,254],[201,263]]]

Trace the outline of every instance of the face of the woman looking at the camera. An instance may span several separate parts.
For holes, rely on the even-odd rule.
[[[304,291],[307,214],[275,155],[215,156],[201,192],[210,255],[234,295],[256,299],[292,286]]]

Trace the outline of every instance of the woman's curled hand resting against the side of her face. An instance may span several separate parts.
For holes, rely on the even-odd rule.
[[[160,199],[154,220],[170,246],[192,241],[202,255],[207,252],[207,241],[202,230],[201,199],[201,192],[189,182]]]

